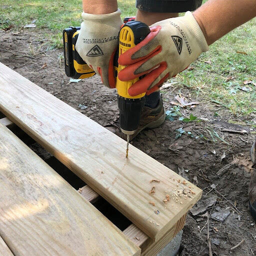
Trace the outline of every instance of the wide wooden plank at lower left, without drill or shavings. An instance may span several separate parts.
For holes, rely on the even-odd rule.
[[[139,255],[140,249],[0,124],[0,235],[14,255]]]

